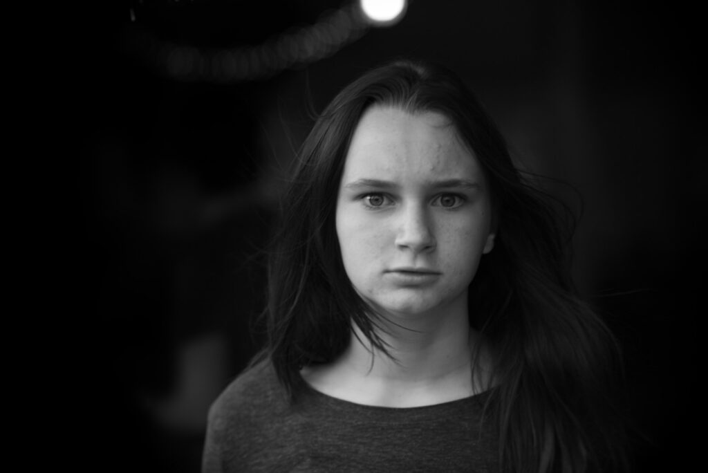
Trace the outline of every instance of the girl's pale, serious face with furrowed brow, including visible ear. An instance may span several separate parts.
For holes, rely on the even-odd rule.
[[[346,273],[375,309],[467,309],[467,287],[493,246],[491,196],[450,120],[367,110],[346,156],[336,231]]]

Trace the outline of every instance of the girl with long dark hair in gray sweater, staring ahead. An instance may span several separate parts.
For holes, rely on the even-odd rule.
[[[455,74],[364,74],[299,154],[268,346],[212,406],[203,472],[619,471],[619,354],[566,236]]]

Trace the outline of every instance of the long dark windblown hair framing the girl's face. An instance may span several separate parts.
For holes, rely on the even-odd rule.
[[[549,195],[515,169],[467,86],[440,65],[401,59],[367,72],[331,101],[300,149],[268,268],[264,355],[282,384],[297,399],[299,370],[341,355],[352,322],[386,352],[348,280],[335,230],[350,140],[374,104],[447,116],[489,180],[497,236],[469,287],[469,321],[493,354],[488,412],[503,470],[622,470],[622,424],[610,394],[619,348],[573,289],[564,220]]]

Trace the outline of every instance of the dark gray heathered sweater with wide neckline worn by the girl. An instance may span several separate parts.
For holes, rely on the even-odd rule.
[[[261,363],[212,404],[202,473],[496,472],[496,436],[489,421],[481,426],[485,399],[395,409],[308,389],[292,404]]]

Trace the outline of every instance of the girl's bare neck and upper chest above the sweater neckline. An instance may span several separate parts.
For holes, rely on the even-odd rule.
[[[425,317],[387,314],[376,325],[388,355],[372,347],[354,326],[341,357],[303,372],[305,379],[333,397],[378,406],[439,404],[481,392],[472,377],[479,336],[469,327],[466,305]]]

